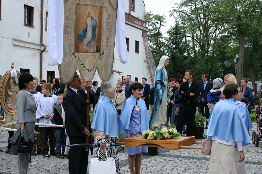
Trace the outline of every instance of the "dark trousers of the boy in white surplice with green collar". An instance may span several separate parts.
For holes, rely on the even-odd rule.
[[[54,127],[39,127],[40,128],[40,136],[41,136],[41,141],[42,141],[42,146],[43,146],[43,152],[48,152],[49,147],[48,147],[48,137],[49,137],[49,144],[50,144],[50,153],[55,152],[55,130]]]

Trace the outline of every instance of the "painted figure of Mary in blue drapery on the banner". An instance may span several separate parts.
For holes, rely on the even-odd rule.
[[[92,17],[91,12],[88,12],[88,17],[86,18],[86,25],[81,33],[77,35],[77,44],[79,44],[82,40],[84,40],[84,47],[87,49],[88,52],[95,52],[94,42],[96,41],[97,37],[97,21],[95,18]],[[94,44],[94,45],[93,45]],[[90,46],[94,46],[94,49],[91,49]]]

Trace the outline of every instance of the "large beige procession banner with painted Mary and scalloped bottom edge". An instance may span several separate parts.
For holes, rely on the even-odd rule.
[[[117,0],[64,0],[63,61],[59,74],[66,84],[79,68],[87,81],[95,71],[102,81],[112,74]]]

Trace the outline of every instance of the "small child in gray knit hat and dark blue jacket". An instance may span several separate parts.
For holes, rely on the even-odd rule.
[[[215,80],[212,81],[213,83],[213,88],[208,92],[207,95],[207,105],[208,109],[212,109],[213,105],[216,104],[220,98],[220,87],[223,84],[223,80],[221,78],[216,78]]]

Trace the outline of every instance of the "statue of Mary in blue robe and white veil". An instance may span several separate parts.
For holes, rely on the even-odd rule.
[[[149,127],[151,130],[167,128],[166,104],[173,95],[168,87],[168,77],[165,66],[169,64],[169,57],[163,55],[155,73],[154,105],[150,117]]]

